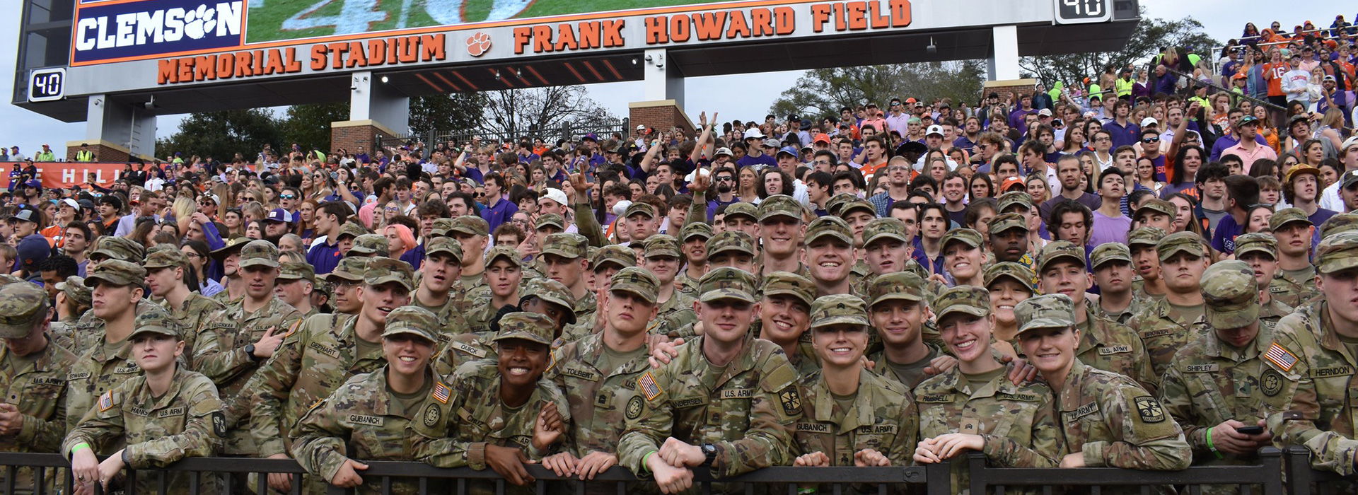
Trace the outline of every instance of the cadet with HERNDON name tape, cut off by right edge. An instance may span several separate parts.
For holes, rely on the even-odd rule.
[[[1283,316],[1263,354],[1282,374],[1281,393],[1291,397],[1285,412],[1268,416],[1268,431],[1279,448],[1309,449],[1313,468],[1348,476],[1358,450],[1358,232],[1320,241],[1316,271],[1323,297]],[[1260,387],[1272,388],[1266,378]]]

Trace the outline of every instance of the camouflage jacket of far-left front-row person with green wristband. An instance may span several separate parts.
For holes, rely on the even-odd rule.
[[[61,452],[69,457],[76,443],[90,443],[96,450],[124,445],[128,468],[163,468],[185,457],[210,457],[221,446],[225,416],[221,414],[217,388],[208,377],[178,369],[170,389],[159,399],[147,387],[147,377],[137,376],[99,396],[98,404],[67,435]],[[171,494],[187,492],[189,472],[172,472],[166,483]],[[200,487],[213,486],[215,476],[204,473]],[[155,476],[137,479],[137,492],[151,492]],[[212,491],[209,491],[212,492]]]

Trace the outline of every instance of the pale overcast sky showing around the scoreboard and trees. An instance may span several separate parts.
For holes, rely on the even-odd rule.
[[[1354,19],[1355,8],[1347,4],[1346,11],[1339,11],[1343,1],[1287,1],[1286,8],[1281,8],[1278,1],[1266,0],[1198,0],[1183,3],[1181,0],[1141,0],[1146,7],[1146,14],[1154,18],[1183,18],[1192,16],[1200,20],[1210,35],[1226,41],[1240,34],[1247,22],[1267,26],[1272,20],[1279,20],[1285,27],[1312,20],[1320,27],[1329,26],[1335,15],[1343,14],[1346,19]],[[1283,9],[1285,15],[1266,15]],[[7,68],[3,75],[12,75],[15,66],[15,53],[18,50],[19,16],[10,15],[0,18],[0,66]],[[740,76],[713,76],[694,77],[687,80],[684,87],[684,108],[691,115],[703,110],[716,110],[724,121],[732,118],[760,119],[769,106],[779,92],[792,87],[801,72],[773,72]],[[759,87],[760,91],[743,88]],[[8,76],[0,77],[0,98],[8,102],[14,92],[14,80]],[[641,81],[610,83],[589,85],[589,92],[595,100],[619,117],[626,117],[627,103],[641,100]],[[156,136],[166,137],[174,134],[181,117],[163,115],[159,118]],[[18,145],[20,151],[33,156],[34,151],[43,142],[50,144],[58,157],[65,156],[65,142],[83,140],[84,122],[64,123],[45,115],[30,113],[8,103],[0,103],[0,141],[4,146]]]

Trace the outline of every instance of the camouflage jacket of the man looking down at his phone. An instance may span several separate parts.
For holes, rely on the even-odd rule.
[[[1175,354],[1160,382],[1160,401],[1183,427],[1195,464],[1255,464],[1222,453],[1217,460],[1207,448],[1207,429],[1234,419],[1255,424],[1270,414],[1287,408],[1281,395],[1286,380],[1264,363],[1263,353],[1272,344],[1272,330],[1260,324],[1259,335],[1245,349],[1226,346],[1209,332]]]

